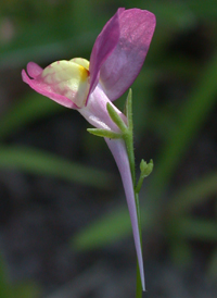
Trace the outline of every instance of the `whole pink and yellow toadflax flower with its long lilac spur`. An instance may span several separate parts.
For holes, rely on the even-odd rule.
[[[155,28],[155,16],[139,9],[118,9],[98,36],[90,62],[74,58],[58,61],[42,70],[34,62],[23,70],[23,80],[37,92],[80,112],[94,127],[115,134],[120,129],[107,112],[110,103],[127,125],[126,116],[113,105],[133,83],[144,62]],[[31,77],[31,78],[29,78]],[[143,261],[129,160],[123,138],[105,141],[123,179],[144,289]]]

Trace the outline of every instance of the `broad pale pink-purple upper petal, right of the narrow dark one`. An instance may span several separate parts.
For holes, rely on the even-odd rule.
[[[138,76],[155,29],[153,13],[130,9],[119,13],[120,36],[100,70],[100,82],[110,100],[120,97]]]

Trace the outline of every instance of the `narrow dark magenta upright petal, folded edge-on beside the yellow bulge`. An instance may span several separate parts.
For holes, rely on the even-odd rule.
[[[119,39],[118,16],[125,9],[118,9],[115,15],[105,24],[95,39],[90,57],[90,89],[89,95],[99,82],[101,65],[116,47]]]

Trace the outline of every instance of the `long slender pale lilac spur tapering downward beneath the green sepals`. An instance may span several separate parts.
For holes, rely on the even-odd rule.
[[[139,269],[140,269],[142,289],[144,290],[145,289],[144,269],[143,269],[143,259],[142,259],[141,243],[140,243],[140,233],[138,227],[137,207],[135,201],[135,191],[132,186],[132,178],[131,178],[131,172],[130,172],[129,160],[126,151],[126,146],[123,139],[105,138],[105,141],[116,161],[117,167],[122,176],[123,185],[125,188],[125,195],[127,198],[127,204],[128,204],[129,215],[130,215],[131,225],[132,225],[137,258],[138,258]]]

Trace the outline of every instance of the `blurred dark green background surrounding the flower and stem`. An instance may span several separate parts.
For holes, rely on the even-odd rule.
[[[157,25],[132,85],[143,297],[216,297],[215,0],[0,1],[0,297],[135,297],[124,189],[103,139],[22,82],[29,61],[89,59],[118,7]],[[116,101],[120,110],[127,95]]]

